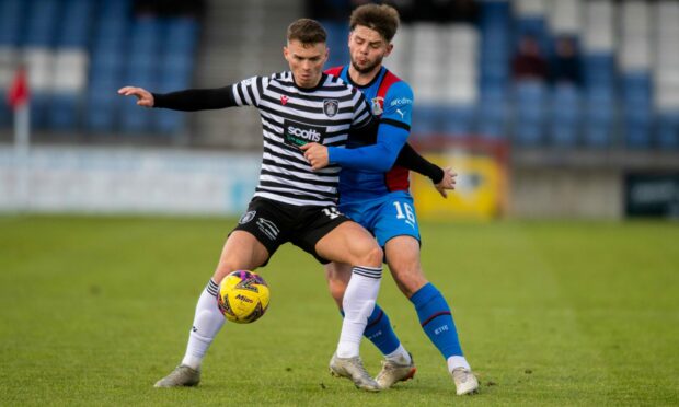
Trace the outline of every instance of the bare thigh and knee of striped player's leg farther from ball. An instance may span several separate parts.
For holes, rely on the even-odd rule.
[[[341,223],[321,237],[315,252],[330,261],[367,267],[382,265],[382,249],[367,230],[353,221]]]

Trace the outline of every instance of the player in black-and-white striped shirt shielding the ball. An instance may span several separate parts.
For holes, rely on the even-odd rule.
[[[340,166],[314,170],[300,150],[309,142],[344,147],[349,135],[369,137],[376,125],[362,93],[322,71],[327,59],[325,40],[318,22],[300,19],[288,27],[284,47],[289,71],[220,89],[169,94],[136,86],[118,90],[137,97],[137,104],[145,107],[193,112],[250,105],[262,118],[264,152],[254,197],[229,234],[212,278],[198,299],[181,364],[158,381],[157,387],[198,384],[202,361],[225,323],[216,301],[218,283],[231,271],[265,266],[281,244],[291,242],[323,264],[353,265],[331,371],[359,388],[380,389],[362,367],[359,344],[379,291],[382,249],[370,233],[337,210]],[[389,159],[393,163],[393,156]]]

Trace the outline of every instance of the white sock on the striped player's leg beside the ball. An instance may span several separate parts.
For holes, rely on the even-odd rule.
[[[182,360],[182,364],[192,369],[200,369],[205,353],[225,324],[226,318],[217,306],[218,290],[217,283],[210,279],[198,299],[194,325],[188,334],[186,354]]]

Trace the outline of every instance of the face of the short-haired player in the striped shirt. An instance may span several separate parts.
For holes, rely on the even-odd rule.
[[[287,47],[283,47],[283,55],[298,86],[313,88],[319,84],[323,65],[327,60],[327,47],[324,43],[302,44],[292,39]]]

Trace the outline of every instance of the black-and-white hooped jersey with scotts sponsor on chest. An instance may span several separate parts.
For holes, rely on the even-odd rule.
[[[361,92],[326,74],[315,88],[300,89],[289,71],[245,79],[231,90],[237,105],[257,107],[262,118],[264,154],[254,195],[295,206],[335,205],[340,166],[312,171],[299,146],[344,147],[349,130],[371,125]]]

